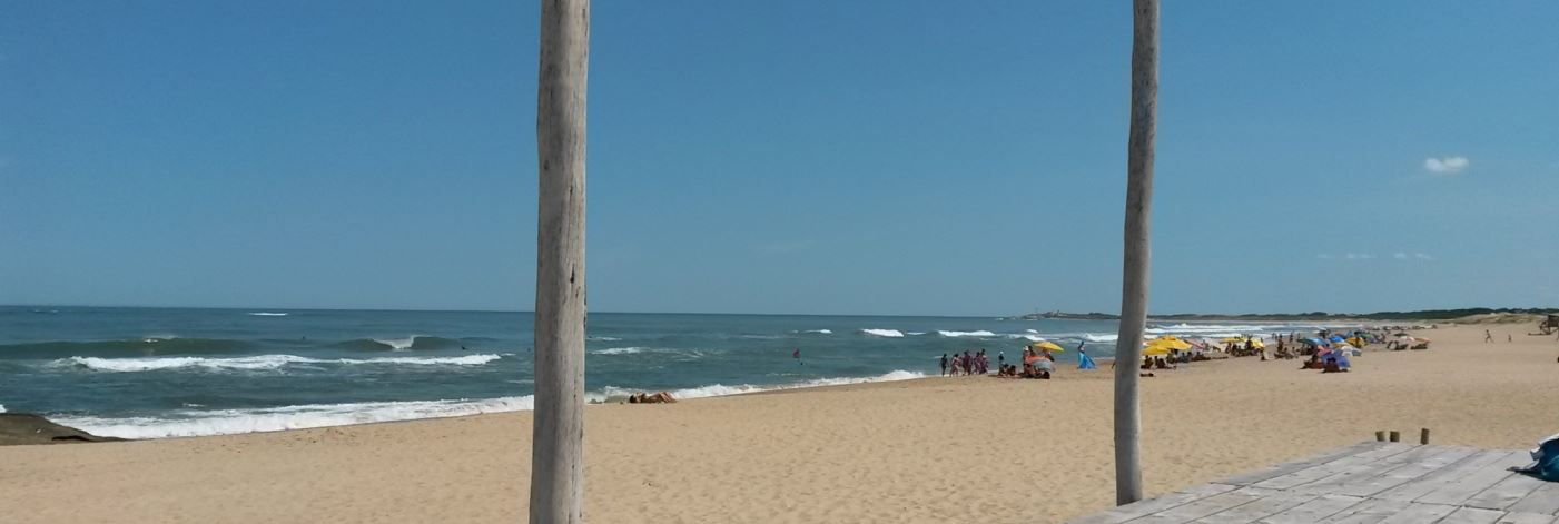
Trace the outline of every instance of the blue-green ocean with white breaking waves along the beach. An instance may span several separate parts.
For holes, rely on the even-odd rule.
[[[532,409],[532,313],[0,307],[0,412],[125,438],[195,437]],[[1313,326],[1149,323],[1230,337]],[[1115,321],[591,313],[588,399],[703,398],[939,374],[945,352],[1052,340],[1115,352]],[[792,359],[800,349],[801,359]],[[1098,373],[1098,371],[1094,371]]]

